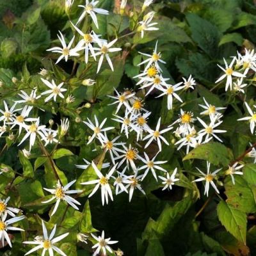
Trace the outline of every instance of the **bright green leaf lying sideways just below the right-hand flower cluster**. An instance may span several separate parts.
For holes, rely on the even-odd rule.
[[[202,159],[214,165],[222,164],[223,166],[228,166],[233,156],[231,150],[223,144],[209,142],[194,148],[182,160],[188,159]]]

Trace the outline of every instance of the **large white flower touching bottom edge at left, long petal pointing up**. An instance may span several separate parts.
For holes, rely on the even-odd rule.
[[[36,244],[36,246],[33,249],[29,250],[25,255],[29,255],[30,253],[43,249],[42,256],[44,256],[46,252],[48,252],[50,256],[53,256],[54,251],[62,256],[67,256],[64,252],[60,250],[60,248],[58,248],[54,244],[60,242],[62,239],[67,237],[69,233],[65,233],[61,236],[54,237],[56,233],[56,227],[57,225],[55,224],[54,228],[52,228],[50,236],[48,236],[47,229],[45,227],[44,221],[42,220],[44,237],[40,237],[40,239],[35,239],[35,241],[23,242],[24,244]]]

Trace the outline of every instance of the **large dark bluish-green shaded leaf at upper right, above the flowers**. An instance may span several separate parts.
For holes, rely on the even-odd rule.
[[[192,38],[198,46],[212,58],[216,57],[216,49],[220,42],[220,31],[208,20],[202,19],[195,13],[186,15]]]

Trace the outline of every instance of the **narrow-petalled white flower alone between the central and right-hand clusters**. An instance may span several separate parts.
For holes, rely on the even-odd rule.
[[[166,145],[169,145],[168,141],[162,136],[165,132],[170,131],[173,127],[168,127],[166,129],[163,129],[162,131],[159,131],[160,129],[160,124],[161,124],[161,117],[159,117],[159,120],[156,125],[156,130],[150,130],[148,131],[149,134],[145,136],[143,140],[148,140],[147,144],[145,145],[145,148],[147,148],[150,143],[152,143],[153,140],[157,141],[157,145],[159,147],[159,151],[162,151],[162,145],[161,145],[161,140],[164,141]]]

